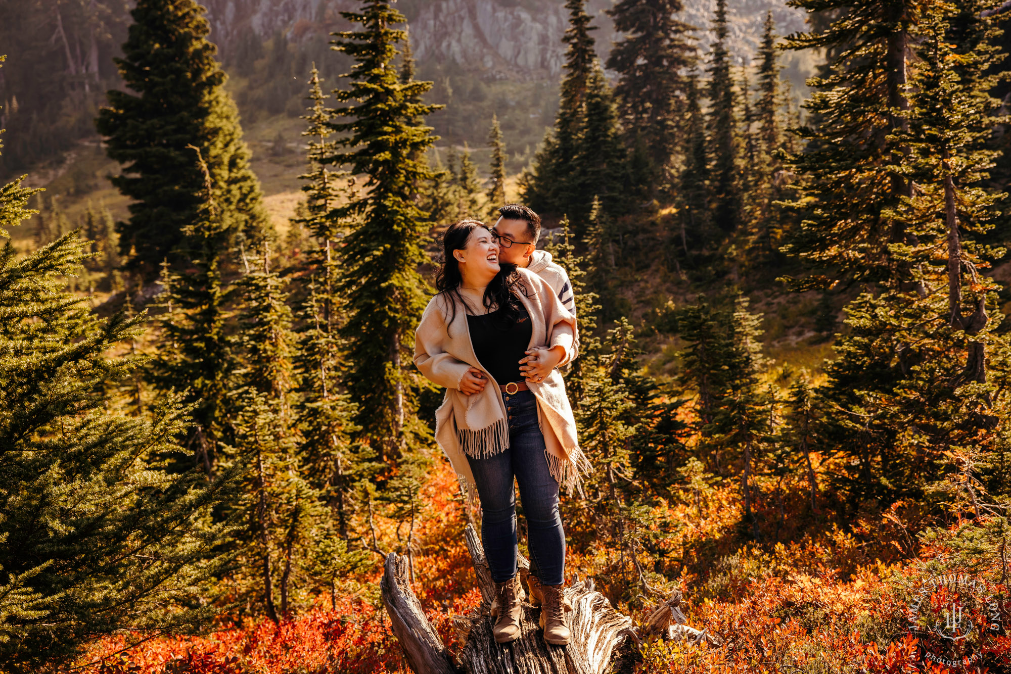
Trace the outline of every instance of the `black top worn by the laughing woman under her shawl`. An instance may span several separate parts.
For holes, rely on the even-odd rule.
[[[496,309],[480,316],[468,315],[467,327],[477,362],[496,383],[523,381],[520,360],[526,356],[534,328],[522,303],[515,321],[504,318],[501,309]]]

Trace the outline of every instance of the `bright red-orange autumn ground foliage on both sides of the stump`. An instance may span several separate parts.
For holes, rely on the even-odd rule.
[[[415,533],[415,572],[424,582],[416,582],[413,587],[433,625],[456,652],[462,644],[450,629],[450,618],[476,606],[480,594],[463,545],[466,515],[456,477],[445,461],[438,461],[428,479],[425,508]],[[653,533],[661,535],[661,548],[685,562],[678,583],[690,602],[685,610],[688,623],[719,637],[723,644],[708,648],[647,643],[637,673],[946,674],[940,667],[917,665],[916,640],[901,631],[904,606],[890,580],[913,575],[915,567],[906,562],[874,561],[875,557],[888,559],[880,553],[890,549],[898,552],[888,541],[875,542],[874,538],[888,538],[895,531],[888,531],[890,524],[898,528],[902,518],[913,513],[893,509],[881,515],[882,523],[871,525],[869,519],[861,520],[851,533],[826,524],[817,540],[802,536],[769,549],[746,546],[734,553],[729,565],[716,567],[714,560],[734,552],[732,533],[739,520],[736,489],[733,484],[717,485],[706,494],[705,502],[685,498],[684,502],[661,502],[654,508],[651,521]],[[804,484],[793,485],[793,495],[803,500],[804,489]],[[397,542],[403,537],[402,532],[398,537],[396,522],[378,517],[375,524],[380,546],[398,549]],[[703,541],[712,545],[701,548]],[[868,547],[871,545],[878,547]],[[904,543],[899,548],[906,546]],[[927,548],[919,554],[924,559],[942,551]],[[569,577],[594,576],[608,566],[611,555],[611,551],[592,545],[570,547]],[[871,561],[866,562],[868,559]],[[381,571],[377,555],[369,573],[354,580],[366,589],[375,588]],[[363,596],[366,594],[369,596]],[[94,646],[88,654],[93,664],[82,671],[406,672],[376,592],[339,594],[338,599],[336,610],[331,608],[329,597],[320,596],[315,606],[279,624],[247,619],[221,624],[206,636],[153,638],[126,655],[116,655],[125,638],[107,639]],[[644,620],[652,606],[621,608],[636,620]],[[1011,638],[998,637],[992,646],[995,652],[1005,654],[1003,662],[1011,664],[1006,655],[1011,652]]]

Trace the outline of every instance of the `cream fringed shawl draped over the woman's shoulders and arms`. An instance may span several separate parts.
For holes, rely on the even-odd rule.
[[[565,357],[559,366],[569,363],[576,356],[575,316],[562,306],[542,278],[526,269],[518,271],[530,295],[520,294],[533,328],[530,347],[560,346]],[[451,302],[456,303],[452,323],[449,322],[453,316]],[[473,498],[477,490],[467,456],[491,457],[508,449],[509,422],[498,382],[487,373],[488,385],[481,393],[467,396],[459,390],[467,370],[475,367],[483,371],[470,342],[466,309],[459,300],[440,294],[429,302],[415,332],[415,365],[429,380],[446,387],[446,398],[436,411],[436,441]],[[528,386],[537,398],[537,415],[551,475],[565,485],[569,495],[573,491],[581,494],[580,473],[588,472],[589,462],[579,450],[565,383],[555,369],[543,382],[528,382]]]

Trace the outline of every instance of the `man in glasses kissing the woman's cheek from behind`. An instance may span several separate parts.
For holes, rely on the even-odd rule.
[[[562,306],[575,313],[572,284],[565,270],[551,262],[551,254],[537,250],[541,235],[541,218],[530,208],[508,203],[498,209],[501,216],[492,227],[498,236],[498,260],[517,267],[526,267],[542,279],[558,295]]]

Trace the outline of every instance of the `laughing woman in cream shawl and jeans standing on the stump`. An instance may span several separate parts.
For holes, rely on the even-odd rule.
[[[544,638],[567,644],[558,487],[564,482],[569,494],[578,489],[588,463],[555,368],[575,357],[575,317],[540,277],[499,264],[497,240],[481,222],[451,225],[443,247],[439,294],[418,327],[415,364],[446,387],[436,440],[468,495],[476,489],[481,499],[481,541],[495,581],[495,641],[520,637],[515,478],[539,575],[532,585],[542,594]]]

